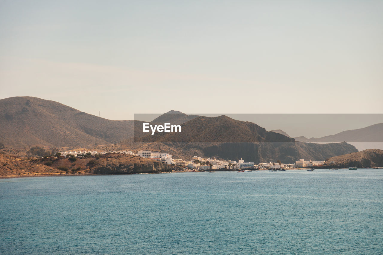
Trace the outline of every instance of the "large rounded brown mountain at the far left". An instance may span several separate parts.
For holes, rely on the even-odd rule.
[[[142,122],[104,119],[31,96],[0,100],[0,142],[8,147],[111,144],[132,137],[134,123]]]

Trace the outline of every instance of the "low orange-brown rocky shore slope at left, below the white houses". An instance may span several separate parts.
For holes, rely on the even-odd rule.
[[[131,174],[183,172],[184,168],[141,157],[105,154],[101,157],[67,159],[63,157],[22,159],[0,154],[0,177],[62,174]]]

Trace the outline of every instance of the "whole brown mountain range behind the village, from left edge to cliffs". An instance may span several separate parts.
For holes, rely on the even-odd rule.
[[[255,123],[224,115],[209,118],[172,110],[151,123],[164,122],[180,124],[182,132],[151,136],[142,132],[142,121],[112,121],[29,96],[0,100],[0,142],[8,147],[87,148],[116,144],[114,148],[169,152],[183,159],[196,155],[232,160],[242,157],[255,163],[324,160],[357,152],[354,146],[345,142],[296,142],[280,131],[266,131]]]

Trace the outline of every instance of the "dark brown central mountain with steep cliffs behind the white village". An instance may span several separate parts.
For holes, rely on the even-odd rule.
[[[147,134],[127,139],[119,145],[133,150],[169,152],[174,158],[181,159],[190,159],[193,156],[221,159],[242,157],[255,163],[325,160],[335,155],[357,152],[354,146],[345,142],[295,142],[293,138],[266,131],[255,123],[238,121],[224,115],[214,118],[198,116],[181,124],[181,132],[157,132],[153,136]]]

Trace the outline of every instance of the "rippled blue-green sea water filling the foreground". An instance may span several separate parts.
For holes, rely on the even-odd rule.
[[[383,254],[383,170],[0,180],[1,254]]]

